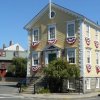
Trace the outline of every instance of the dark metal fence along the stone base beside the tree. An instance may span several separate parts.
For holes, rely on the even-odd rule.
[[[53,88],[57,88],[57,85],[55,84]],[[48,84],[48,79],[44,78],[40,82],[34,84],[34,92],[38,93],[41,89],[50,89],[50,84]],[[52,91],[57,92],[57,91]],[[61,87],[62,93],[82,93],[83,92],[83,79],[82,78],[70,78],[70,79],[63,79],[63,85]]]

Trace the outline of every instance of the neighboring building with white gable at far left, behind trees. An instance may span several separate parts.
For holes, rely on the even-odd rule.
[[[0,76],[6,75],[9,65],[12,64],[12,59],[15,57],[27,58],[27,51],[24,50],[18,43],[10,44],[9,47],[0,49]]]

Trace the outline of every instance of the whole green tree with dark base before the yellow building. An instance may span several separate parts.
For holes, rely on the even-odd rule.
[[[79,67],[69,64],[62,58],[50,62],[44,68],[44,73],[48,78],[51,92],[61,92],[64,78],[76,78],[80,76]]]

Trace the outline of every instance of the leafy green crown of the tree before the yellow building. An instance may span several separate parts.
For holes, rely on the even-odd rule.
[[[75,78],[80,76],[79,67],[75,64],[69,64],[61,58],[50,62],[48,67],[45,67],[44,73],[54,78]]]

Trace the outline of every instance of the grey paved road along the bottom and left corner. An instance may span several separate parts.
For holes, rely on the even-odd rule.
[[[0,100],[100,100],[100,97],[81,99],[50,99],[25,97],[18,93],[16,82],[0,82]]]

